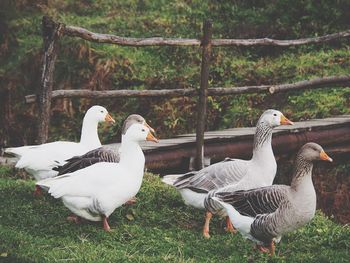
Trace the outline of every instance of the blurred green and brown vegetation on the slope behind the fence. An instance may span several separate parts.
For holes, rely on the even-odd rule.
[[[350,28],[347,0],[2,0],[0,1],[0,146],[33,143],[35,105],[24,103],[40,83],[41,19],[130,37],[200,38],[204,19],[214,38],[296,39]],[[291,48],[215,48],[211,86],[290,83],[349,74],[349,40]],[[54,89],[164,89],[198,87],[200,49],[119,47],[63,37]],[[100,104],[117,119],[101,128],[101,140],[119,137],[124,118],[140,113],[162,138],[195,129],[196,98],[57,99],[52,104],[50,140],[78,140],[84,111]],[[5,106],[9,105],[9,106]],[[208,130],[253,126],[266,108],[292,120],[350,113],[350,88],[274,95],[211,97]]]

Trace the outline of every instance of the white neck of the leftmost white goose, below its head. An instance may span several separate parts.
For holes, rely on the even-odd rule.
[[[80,143],[89,147],[90,149],[95,149],[101,147],[100,139],[97,133],[98,121],[91,120],[89,116],[85,115],[83,120],[83,126],[81,128]]]

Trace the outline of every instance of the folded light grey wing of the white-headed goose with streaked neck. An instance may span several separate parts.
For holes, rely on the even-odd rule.
[[[226,159],[198,172],[183,175],[174,183],[174,186],[178,189],[189,188],[197,192],[209,192],[238,182],[246,174],[247,162],[238,159]]]

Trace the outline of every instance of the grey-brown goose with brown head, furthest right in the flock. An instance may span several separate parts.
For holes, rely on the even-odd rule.
[[[244,238],[262,252],[275,252],[283,234],[308,223],[315,215],[316,193],[312,184],[313,162],[332,162],[316,143],[305,144],[298,152],[290,186],[272,185],[252,190],[220,192],[213,197],[227,211]]]

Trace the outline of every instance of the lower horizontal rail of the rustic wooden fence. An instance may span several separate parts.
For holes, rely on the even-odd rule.
[[[290,84],[209,88],[209,96],[224,96],[248,93],[276,93],[288,90],[314,89],[322,87],[349,87],[350,75],[331,76],[303,80]],[[197,89],[163,89],[163,90],[53,90],[52,98],[120,98],[120,97],[182,97],[197,95]],[[26,103],[33,103],[37,99],[36,95],[25,96]]]

